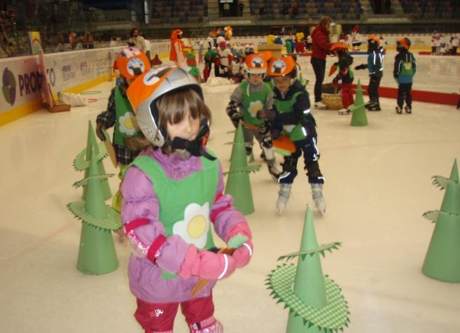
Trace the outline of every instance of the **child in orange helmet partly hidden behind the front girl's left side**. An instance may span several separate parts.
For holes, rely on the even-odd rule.
[[[127,138],[139,135],[139,127],[137,127],[130,101],[127,99],[126,90],[135,78],[151,69],[151,64],[146,54],[134,46],[123,49],[116,58],[116,64],[118,71],[120,71],[121,83],[111,90],[107,110],[97,115],[96,135],[105,141],[106,138],[102,129],[114,127],[113,148],[120,169],[118,177],[121,179],[123,170],[138,153],[126,146]],[[120,211],[122,201],[123,197],[120,196],[120,191],[116,192],[112,199],[113,208]]]

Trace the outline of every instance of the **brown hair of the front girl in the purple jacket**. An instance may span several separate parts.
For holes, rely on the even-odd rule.
[[[183,120],[186,115],[185,106],[188,106],[192,118],[200,118],[200,120],[211,121],[211,111],[200,95],[193,89],[179,89],[165,94],[155,101],[158,122],[160,128],[167,129],[169,124],[177,124]],[[144,150],[145,148],[153,146],[150,141],[146,139],[144,134],[125,139],[126,147],[132,151]],[[164,147],[165,153],[172,153],[170,147]]]

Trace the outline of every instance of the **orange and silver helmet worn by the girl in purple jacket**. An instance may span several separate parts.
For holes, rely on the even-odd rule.
[[[161,66],[151,69],[127,88],[127,97],[136,113],[137,124],[154,146],[162,147],[167,139],[166,129],[160,126],[157,101],[164,94],[183,88],[193,89],[203,98],[196,78],[182,67]]]

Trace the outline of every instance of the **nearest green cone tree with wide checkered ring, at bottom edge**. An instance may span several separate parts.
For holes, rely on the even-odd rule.
[[[270,295],[289,309],[286,333],[337,332],[348,326],[348,304],[340,287],[323,275],[319,257],[339,246],[341,243],[337,242],[318,245],[312,209],[308,207],[300,251],[278,259],[298,257],[297,267],[294,264],[278,266],[265,283],[267,289],[272,290]]]

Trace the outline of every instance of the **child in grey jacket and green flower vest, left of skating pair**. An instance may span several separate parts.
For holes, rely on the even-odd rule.
[[[268,172],[276,180],[280,172],[274,157],[270,125],[266,120],[267,113],[272,110],[273,92],[270,85],[263,82],[267,62],[258,54],[248,55],[244,60],[244,69],[246,80],[235,88],[226,112],[235,127],[242,122],[246,155],[251,156],[255,137],[262,149],[261,157],[267,164]]]

